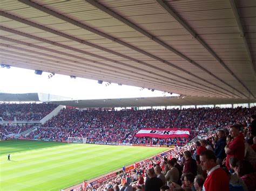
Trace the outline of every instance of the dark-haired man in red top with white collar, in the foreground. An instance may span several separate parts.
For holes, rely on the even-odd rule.
[[[216,164],[216,157],[213,151],[207,150],[200,154],[201,166],[207,171],[207,178],[204,182],[203,190],[205,191],[228,191],[229,179],[224,171]]]

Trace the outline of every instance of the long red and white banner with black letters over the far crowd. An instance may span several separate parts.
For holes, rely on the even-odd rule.
[[[190,129],[156,129],[145,128],[137,132],[136,137],[156,137],[156,138],[170,138],[170,137],[188,137]]]

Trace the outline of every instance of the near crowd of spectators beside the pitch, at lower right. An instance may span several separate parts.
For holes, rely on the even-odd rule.
[[[245,123],[226,121],[226,126],[205,130],[201,134],[204,139],[176,146],[167,155],[156,156],[132,172],[120,174],[99,188],[89,186],[86,190],[254,191],[256,116],[247,117],[238,118],[239,121],[247,119]]]

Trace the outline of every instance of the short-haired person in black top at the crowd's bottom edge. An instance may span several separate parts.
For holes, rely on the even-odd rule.
[[[157,178],[153,168],[147,170],[147,176],[149,176],[149,178],[147,178],[145,182],[145,191],[160,191],[163,182],[161,179]]]

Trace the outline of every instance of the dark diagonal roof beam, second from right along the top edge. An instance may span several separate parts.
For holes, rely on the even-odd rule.
[[[174,13],[172,11],[172,9],[170,8],[170,6],[166,5],[163,0],[156,0],[156,2],[161,6],[161,8],[163,8],[164,10],[167,11],[167,13],[169,13],[170,16],[172,16],[181,26],[184,27],[184,29],[189,32],[191,34],[192,37],[194,37],[202,46],[204,46],[204,48],[215,58],[215,60],[217,60],[221,66],[223,66],[228,73],[230,73],[240,84],[242,84],[242,86],[255,98],[254,94],[251,92],[250,89],[247,88],[247,86],[245,86],[245,84],[237,77],[237,75],[235,75],[230,68],[228,68],[225,63],[219,58],[219,56],[211,49],[210,46],[208,46],[203,39],[201,39],[199,37],[199,35],[194,32],[192,30],[192,28],[190,26],[188,26],[182,19],[180,19],[176,13]],[[215,76],[215,75],[214,75]],[[219,77],[215,76],[216,79],[222,81],[221,79],[219,79]],[[230,86],[230,84],[226,83],[226,82],[223,82],[225,83],[227,86],[229,87],[232,87]],[[233,88],[235,89],[235,88]],[[237,90],[237,89],[235,89]],[[237,90],[239,91],[239,90]],[[240,92],[240,91],[239,91]],[[240,92],[241,93],[241,92]],[[244,95],[244,94],[243,94]],[[247,98],[249,98],[248,96],[246,96]]]

